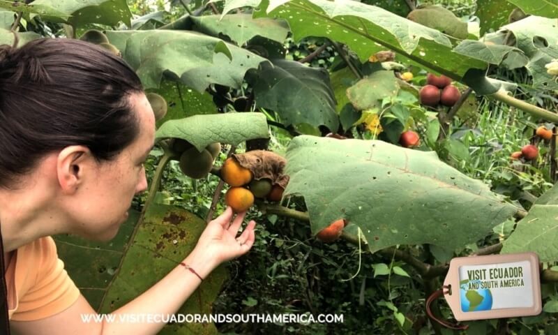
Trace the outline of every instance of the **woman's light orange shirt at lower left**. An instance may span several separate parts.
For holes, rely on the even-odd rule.
[[[6,285],[8,315],[16,321],[47,318],[80,297],[50,236],[17,248],[6,270]]]

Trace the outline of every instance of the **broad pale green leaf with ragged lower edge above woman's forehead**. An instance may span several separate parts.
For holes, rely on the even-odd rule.
[[[246,71],[266,60],[193,31],[107,31],[107,36],[147,89],[158,87],[163,73],[199,92],[213,83],[239,88]]]

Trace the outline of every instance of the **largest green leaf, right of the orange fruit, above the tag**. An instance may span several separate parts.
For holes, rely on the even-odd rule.
[[[518,208],[434,151],[378,140],[297,136],[287,149],[285,195],[299,194],[315,234],[338,218],[361,228],[370,251],[397,244],[465,246]]]

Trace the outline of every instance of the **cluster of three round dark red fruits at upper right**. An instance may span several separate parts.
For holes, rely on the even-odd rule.
[[[451,84],[451,79],[445,75],[428,73],[426,85],[420,91],[421,103],[430,107],[437,107],[439,103],[451,107],[461,97],[459,89]]]

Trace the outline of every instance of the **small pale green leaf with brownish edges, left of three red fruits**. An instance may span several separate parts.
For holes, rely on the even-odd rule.
[[[380,70],[365,77],[347,89],[347,97],[356,110],[382,107],[382,99],[396,96],[399,84],[393,71]]]

